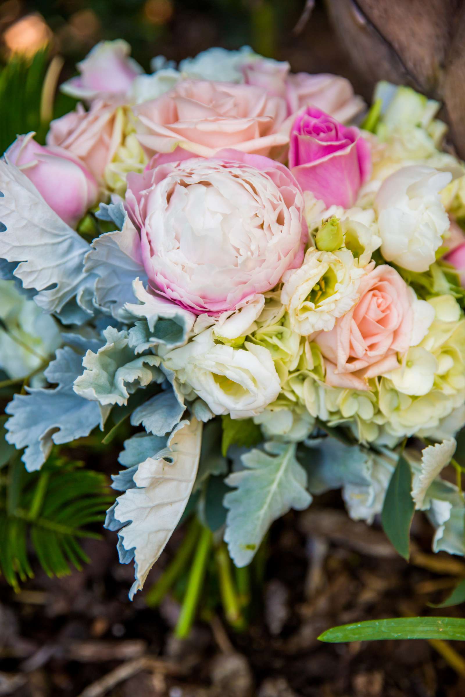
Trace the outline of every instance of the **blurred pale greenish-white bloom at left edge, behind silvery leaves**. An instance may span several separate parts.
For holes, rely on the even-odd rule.
[[[23,378],[46,363],[61,344],[52,316],[17,290],[14,281],[0,280],[0,368],[10,378]],[[40,383],[40,381],[39,381]]]

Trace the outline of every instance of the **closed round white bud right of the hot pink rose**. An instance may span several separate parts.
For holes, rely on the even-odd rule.
[[[449,229],[439,192],[451,178],[450,172],[418,165],[403,167],[383,182],[374,208],[386,261],[419,273],[428,270]]]

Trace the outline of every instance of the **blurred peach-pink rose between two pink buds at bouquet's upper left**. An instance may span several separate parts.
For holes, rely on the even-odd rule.
[[[92,102],[89,112],[78,104],[74,112],[52,121],[47,144],[80,158],[101,183],[121,142],[123,125],[117,113],[116,104],[103,100]]]

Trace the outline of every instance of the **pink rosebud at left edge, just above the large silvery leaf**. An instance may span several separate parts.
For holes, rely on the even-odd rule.
[[[98,184],[78,158],[63,148],[39,145],[33,136],[18,136],[6,158],[31,180],[50,208],[75,227],[96,203]]]

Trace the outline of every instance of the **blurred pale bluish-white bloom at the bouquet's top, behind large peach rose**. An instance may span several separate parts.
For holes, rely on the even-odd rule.
[[[213,47],[197,54],[195,58],[184,59],[178,68],[188,77],[219,82],[244,82],[241,66],[259,57],[250,46],[243,46],[238,51]]]

